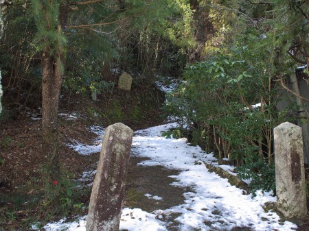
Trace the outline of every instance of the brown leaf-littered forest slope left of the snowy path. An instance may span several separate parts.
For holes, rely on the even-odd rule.
[[[73,141],[90,144],[95,138],[88,129],[91,125],[107,127],[121,121],[137,130],[162,123],[160,107],[164,93],[155,86],[141,84],[143,88],[133,86],[130,92],[114,88],[99,95],[98,101],[62,93],[58,117],[59,156],[62,173],[69,179],[80,178],[85,169],[98,161],[98,154],[85,157],[67,146]],[[25,108],[0,121],[0,231],[29,230],[30,223],[50,220],[59,213],[58,206],[50,210],[52,206],[41,199],[46,158],[41,148],[39,106]],[[90,190],[86,189],[78,200],[88,204],[89,197]]]

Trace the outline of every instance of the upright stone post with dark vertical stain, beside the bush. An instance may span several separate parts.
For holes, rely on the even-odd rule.
[[[282,123],[275,127],[277,209],[286,218],[307,215],[304,149],[301,127]]]

